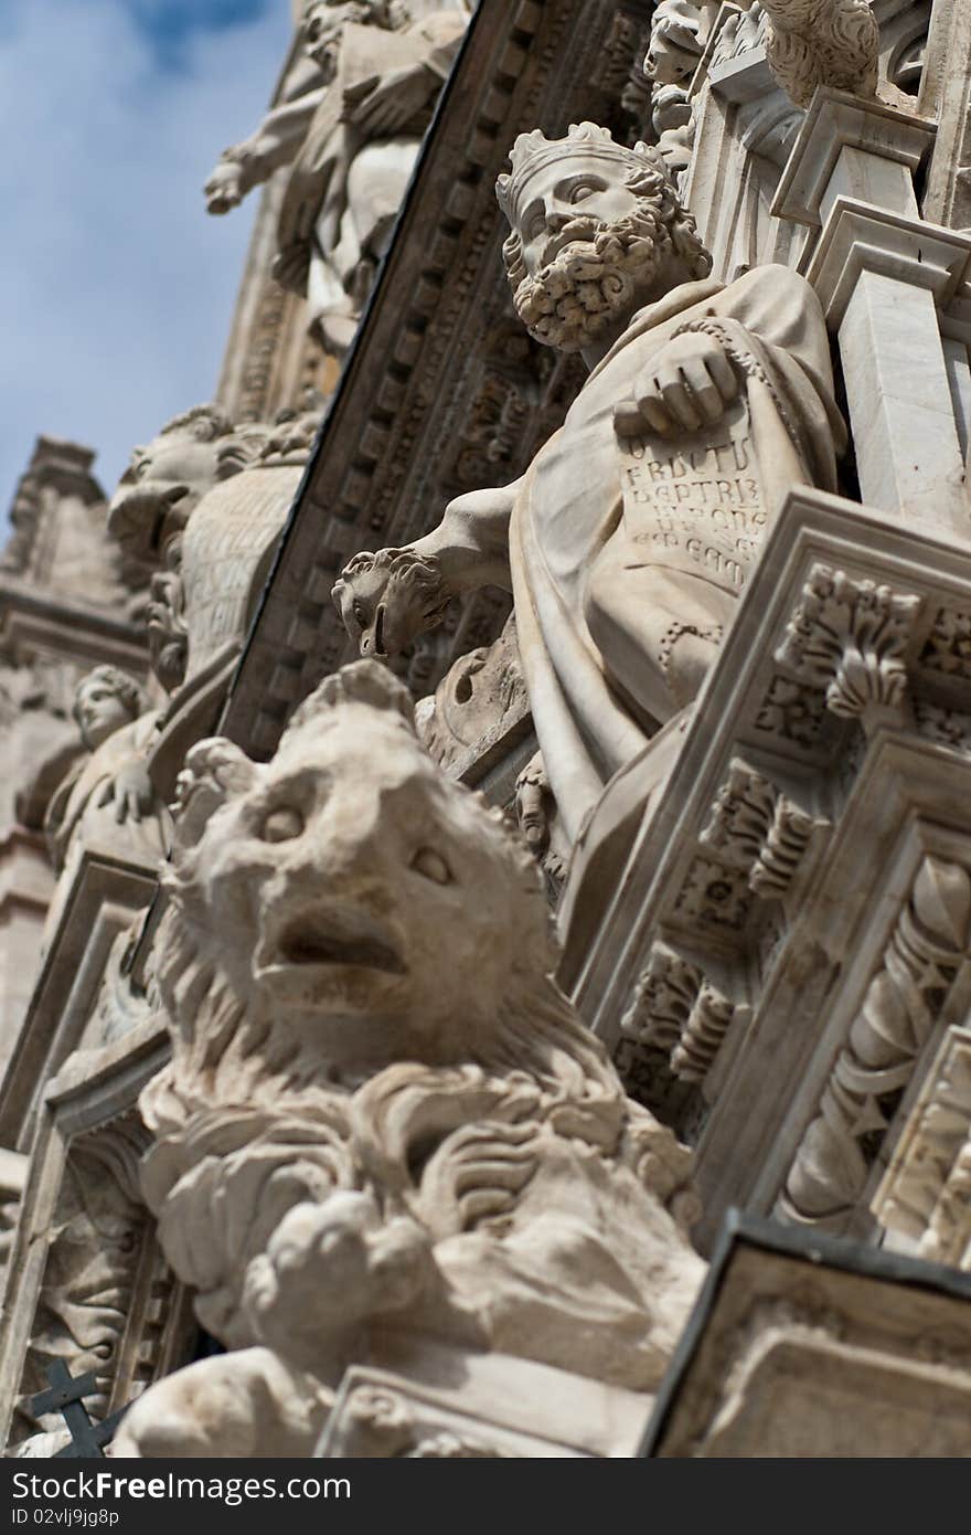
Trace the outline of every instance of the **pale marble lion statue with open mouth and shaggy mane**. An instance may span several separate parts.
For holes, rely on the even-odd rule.
[[[689,1153],[551,979],[528,849],[393,674],[328,677],[268,764],[195,746],[166,886],[143,1187],[229,1352],[114,1454],[310,1455],[402,1332],[653,1391],[704,1269]]]

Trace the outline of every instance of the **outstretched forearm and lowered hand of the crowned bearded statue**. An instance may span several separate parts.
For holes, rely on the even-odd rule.
[[[453,597],[479,586],[511,589],[509,516],[515,485],[449,502],[439,527],[400,550],[356,554],[334,603],[362,655],[396,655],[442,622]]]

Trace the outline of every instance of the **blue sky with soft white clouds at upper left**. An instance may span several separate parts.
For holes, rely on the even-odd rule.
[[[212,396],[256,200],[201,187],[290,35],[290,0],[0,0],[0,516],[38,433],[110,491]]]

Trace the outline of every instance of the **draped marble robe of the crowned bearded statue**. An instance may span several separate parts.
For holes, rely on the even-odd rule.
[[[477,560],[495,571],[508,545],[523,674],[571,840],[611,777],[678,709],[670,697],[658,705],[658,646],[672,623],[721,637],[736,611],[724,583],[652,560],[623,514],[614,407],[630,398],[660,347],[696,322],[721,327],[758,375],[746,376],[744,388],[769,513],[795,482],[833,490],[844,427],[819,302],[788,269],[759,267],[729,287],[684,284],[637,313],[523,479],[454,502],[417,545],[449,548],[453,569],[463,550],[469,571]],[[703,428],[683,441],[704,445],[704,437]]]

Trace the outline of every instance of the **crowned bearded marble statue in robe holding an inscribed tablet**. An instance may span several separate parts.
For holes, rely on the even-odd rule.
[[[589,379],[526,474],[405,550],[359,554],[334,600],[362,654],[448,600],[511,589],[535,732],[571,841],[604,786],[698,694],[782,493],[836,485],[844,427],[819,302],[767,266],[730,286],[657,150],[594,123],[520,135],[499,201],[515,307]]]

